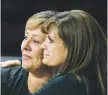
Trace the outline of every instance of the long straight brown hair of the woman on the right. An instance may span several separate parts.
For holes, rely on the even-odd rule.
[[[68,48],[61,72],[82,74],[85,80],[95,80],[100,95],[106,95],[107,45],[98,22],[84,11],[72,10],[49,19],[45,22],[44,30],[48,31],[50,25],[58,28],[58,35]]]

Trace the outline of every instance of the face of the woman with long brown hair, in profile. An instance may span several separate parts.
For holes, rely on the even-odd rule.
[[[65,63],[68,49],[57,34],[57,28],[51,27],[46,40],[42,44],[43,64],[48,66],[62,66]]]

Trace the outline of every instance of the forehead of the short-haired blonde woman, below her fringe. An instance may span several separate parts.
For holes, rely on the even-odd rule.
[[[27,34],[28,36],[38,36],[42,39],[46,38],[46,34],[42,32],[41,28],[37,28],[35,30],[26,30],[25,34]]]

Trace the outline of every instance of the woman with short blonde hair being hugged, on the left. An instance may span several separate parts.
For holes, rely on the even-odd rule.
[[[35,93],[55,73],[55,69],[50,69],[42,63],[40,46],[46,38],[46,34],[41,31],[42,24],[56,13],[44,11],[34,14],[28,19],[25,26],[25,38],[21,45],[22,66],[1,68],[2,95],[30,95]],[[13,65],[20,65],[19,61],[8,61],[7,63],[12,65],[12,62]],[[7,65],[5,64],[5,66]],[[1,67],[4,66],[1,65]]]

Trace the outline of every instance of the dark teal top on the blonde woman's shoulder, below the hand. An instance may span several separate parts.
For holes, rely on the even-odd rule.
[[[1,68],[1,95],[29,95],[27,76],[21,66]]]

